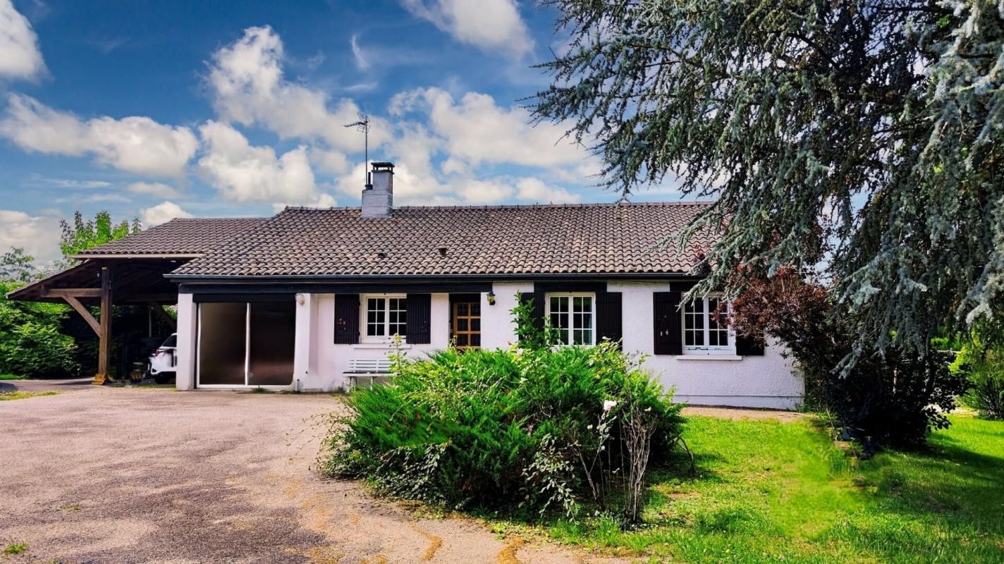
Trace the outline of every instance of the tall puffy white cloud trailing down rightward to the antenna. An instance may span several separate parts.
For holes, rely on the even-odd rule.
[[[357,151],[362,139],[345,123],[358,119],[351,99],[330,103],[322,90],[283,76],[282,40],[271,27],[249,27],[244,36],[213,55],[207,82],[213,105],[227,121],[261,124],[284,138],[323,139],[332,148]],[[330,105],[330,107],[329,107]],[[374,119],[370,148],[389,136],[390,127]]]

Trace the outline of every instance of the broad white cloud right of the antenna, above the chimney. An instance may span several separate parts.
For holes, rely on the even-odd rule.
[[[446,90],[419,88],[391,99],[392,114],[412,111],[428,113],[429,126],[444,137],[451,160],[472,166],[578,167],[589,158],[586,150],[562,139],[559,125],[531,125],[526,109],[500,107],[488,94],[468,92],[457,102]],[[454,163],[447,169],[463,167]]]

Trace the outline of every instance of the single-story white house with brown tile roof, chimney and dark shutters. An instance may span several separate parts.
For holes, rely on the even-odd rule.
[[[563,342],[619,340],[680,400],[801,399],[778,345],[717,324],[715,296],[681,303],[699,251],[661,243],[708,204],[395,208],[394,166],[373,164],[371,182],[360,208],[174,220],[11,297],[176,302],[183,390],[344,389],[387,370],[395,335],[412,357],[451,342],[507,347],[517,342],[510,310],[532,299]]]

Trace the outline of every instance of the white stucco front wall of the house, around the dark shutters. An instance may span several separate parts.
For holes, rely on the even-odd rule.
[[[666,291],[665,282],[610,282],[607,290],[622,294],[624,350],[641,354],[643,366],[667,388],[676,388],[676,399],[694,404],[793,408],[802,397],[802,380],[776,343],[763,356],[688,357],[653,354],[653,292]],[[532,292],[532,282],[496,282],[495,305],[481,296],[482,346],[505,348],[516,341],[510,310],[517,292]],[[379,294],[375,294],[379,295]],[[191,294],[179,296],[179,346],[194,351],[196,307]],[[449,343],[450,296],[432,294],[429,344],[406,344],[410,357],[444,348]],[[392,351],[387,344],[334,343],[334,294],[298,294],[293,385],[302,391],[345,389],[345,371],[353,358],[383,358]],[[180,352],[179,389],[194,382],[194,354]]]

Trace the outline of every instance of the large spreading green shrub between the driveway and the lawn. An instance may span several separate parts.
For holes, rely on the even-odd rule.
[[[399,356],[393,383],[348,398],[322,471],[453,508],[571,516],[590,501],[608,509],[611,497],[630,494],[624,474],[637,475],[631,422],[644,416],[659,464],[683,421],[682,405],[636,360],[609,341]]]

